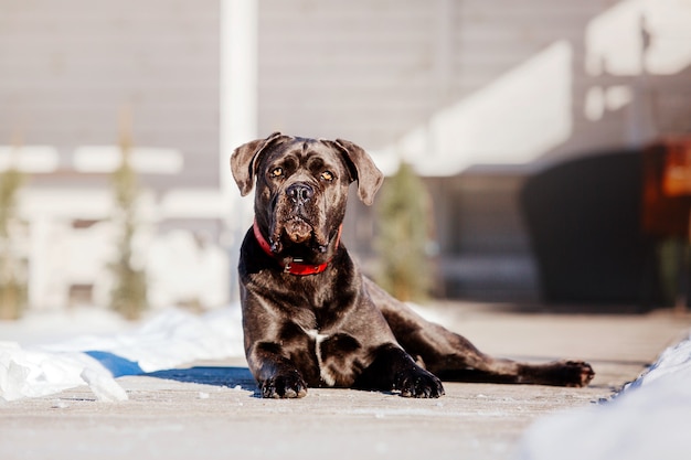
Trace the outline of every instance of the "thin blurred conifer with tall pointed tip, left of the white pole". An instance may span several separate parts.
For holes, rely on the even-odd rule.
[[[145,270],[132,264],[139,183],[129,159],[131,138],[129,129],[127,129],[128,124],[123,122],[123,125],[120,130],[123,161],[113,173],[116,204],[114,221],[119,226],[120,234],[117,243],[118,258],[110,266],[115,278],[115,285],[110,292],[110,308],[128,320],[136,320],[147,308],[147,281]]]

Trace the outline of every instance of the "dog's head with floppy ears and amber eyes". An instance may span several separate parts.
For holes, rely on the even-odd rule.
[[[328,256],[346,215],[349,185],[358,181],[358,195],[370,205],[383,180],[352,142],[279,132],[238,147],[231,170],[243,196],[256,180],[255,220],[277,256]]]

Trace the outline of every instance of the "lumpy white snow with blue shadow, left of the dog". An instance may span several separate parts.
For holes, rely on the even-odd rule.
[[[82,323],[104,328],[107,312],[52,317],[51,324],[63,333]],[[100,402],[127,399],[116,377],[173,368],[200,360],[220,360],[243,354],[240,306],[195,315],[182,310],[166,310],[137,329],[115,321],[123,332],[82,334],[54,343],[39,344],[41,333],[49,332],[44,321],[29,318],[18,324],[1,324],[0,399],[17,400],[46,396],[67,388],[88,385]],[[68,324],[72,324],[71,327]],[[13,331],[13,332],[10,332]],[[18,332],[19,331],[19,332]],[[54,332],[52,334],[54,336]],[[26,338],[29,344],[20,344]],[[33,344],[31,342],[34,342]]]

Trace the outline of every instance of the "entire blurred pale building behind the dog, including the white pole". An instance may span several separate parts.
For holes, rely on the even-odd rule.
[[[639,153],[691,129],[689,23],[689,0],[0,0],[0,167],[32,173],[33,304],[107,291],[123,113],[159,303],[234,288],[251,205],[227,158],[274,130],[414,164],[440,295],[637,301]],[[352,201],[344,235],[365,264],[371,212]]]

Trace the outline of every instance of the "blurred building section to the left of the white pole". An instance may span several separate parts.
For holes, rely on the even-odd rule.
[[[220,33],[219,1],[0,1],[0,168],[30,174],[32,308],[107,303],[124,141],[150,301],[227,302]]]

